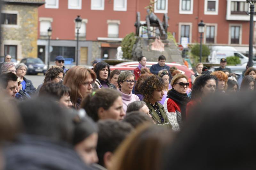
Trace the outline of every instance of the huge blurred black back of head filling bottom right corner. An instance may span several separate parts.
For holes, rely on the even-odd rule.
[[[162,169],[255,169],[255,96],[245,92],[202,101],[170,144]]]

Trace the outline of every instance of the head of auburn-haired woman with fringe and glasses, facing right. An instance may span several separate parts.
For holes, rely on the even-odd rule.
[[[79,109],[81,101],[92,92],[95,79],[93,70],[81,66],[72,67],[67,71],[63,85],[70,88],[70,98],[75,109]]]

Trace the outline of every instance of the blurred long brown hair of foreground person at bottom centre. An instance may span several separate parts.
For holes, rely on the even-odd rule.
[[[164,148],[172,142],[172,129],[143,124],[117,149],[110,170],[156,170]]]

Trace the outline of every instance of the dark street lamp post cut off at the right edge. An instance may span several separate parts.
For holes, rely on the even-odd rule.
[[[249,34],[249,61],[248,61],[248,67],[253,66],[252,62],[252,48],[253,48],[253,16],[255,14],[254,12],[254,4],[256,3],[256,0],[246,0],[247,3],[250,4],[250,13],[247,12],[247,14],[250,14],[250,34]]]

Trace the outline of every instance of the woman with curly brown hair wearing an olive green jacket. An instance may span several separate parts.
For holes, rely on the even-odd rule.
[[[162,124],[172,127],[168,121],[164,107],[159,103],[164,95],[164,81],[156,75],[149,76],[140,85],[141,94],[144,95],[144,101],[149,109],[149,114],[156,124]]]

